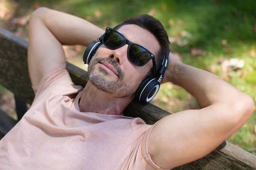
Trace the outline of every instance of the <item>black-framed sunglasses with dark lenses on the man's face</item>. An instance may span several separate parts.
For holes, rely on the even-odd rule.
[[[150,59],[153,61],[153,74],[156,77],[156,62],[154,55],[141,45],[135,44],[125,38],[118,31],[107,27],[105,33],[99,38],[99,41],[106,47],[113,50],[128,44],[128,59],[137,66],[145,65]]]

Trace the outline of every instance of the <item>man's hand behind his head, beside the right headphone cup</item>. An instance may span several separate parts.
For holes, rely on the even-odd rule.
[[[177,65],[182,65],[182,64],[183,63],[180,60],[178,60],[172,53],[169,53],[168,63],[166,66],[166,72],[163,75],[161,84],[170,82],[169,77],[171,77],[172,74],[175,74],[175,72],[177,72]]]

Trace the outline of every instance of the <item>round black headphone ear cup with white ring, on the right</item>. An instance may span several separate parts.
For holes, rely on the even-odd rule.
[[[135,98],[143,104],[148,103],[157,94],[159,88],[160,83],[157,81],[157,79],[148,77],[144,79],[143,82],[140,84],[139,88],[135,93]]]

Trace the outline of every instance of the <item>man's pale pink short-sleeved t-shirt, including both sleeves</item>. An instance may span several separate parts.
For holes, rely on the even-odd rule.
[[[153,125],[80,112],[82,87],[73,84],[66,64],[32,88],[31,108],[0,141],[1,170],[163,170],[147,150]]]

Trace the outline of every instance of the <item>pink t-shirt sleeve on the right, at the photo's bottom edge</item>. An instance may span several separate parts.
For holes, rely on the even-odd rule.
[[[155,123],[156,124],[156,123]],[[154,125],[155,125],[154,124]],[[147,129],[135,139],[133,144],[133,150],[131,151],[131,161],[129,170],[170,170],[170,169],[163,169],[157,164],[155,164],[150,155],[148,154],[148,135],[151,132],[151,129],[154,125],[148,125]],[[137,132],[139,133],[142,127],[137,127]],[[135,130],[134,130],[135,132]],[[135,134],[136,136],[136,134]]]

